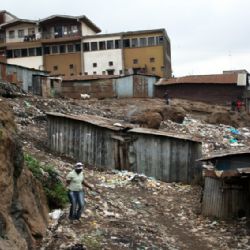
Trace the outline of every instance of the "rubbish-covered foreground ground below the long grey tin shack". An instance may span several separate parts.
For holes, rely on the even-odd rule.
[[[85,174],[98,192],[86,190],[79,222],[67,219],[69,208],[51,213],[43,249],[250,249],[246,218],[202,217],[198,187],[127,171]]]

